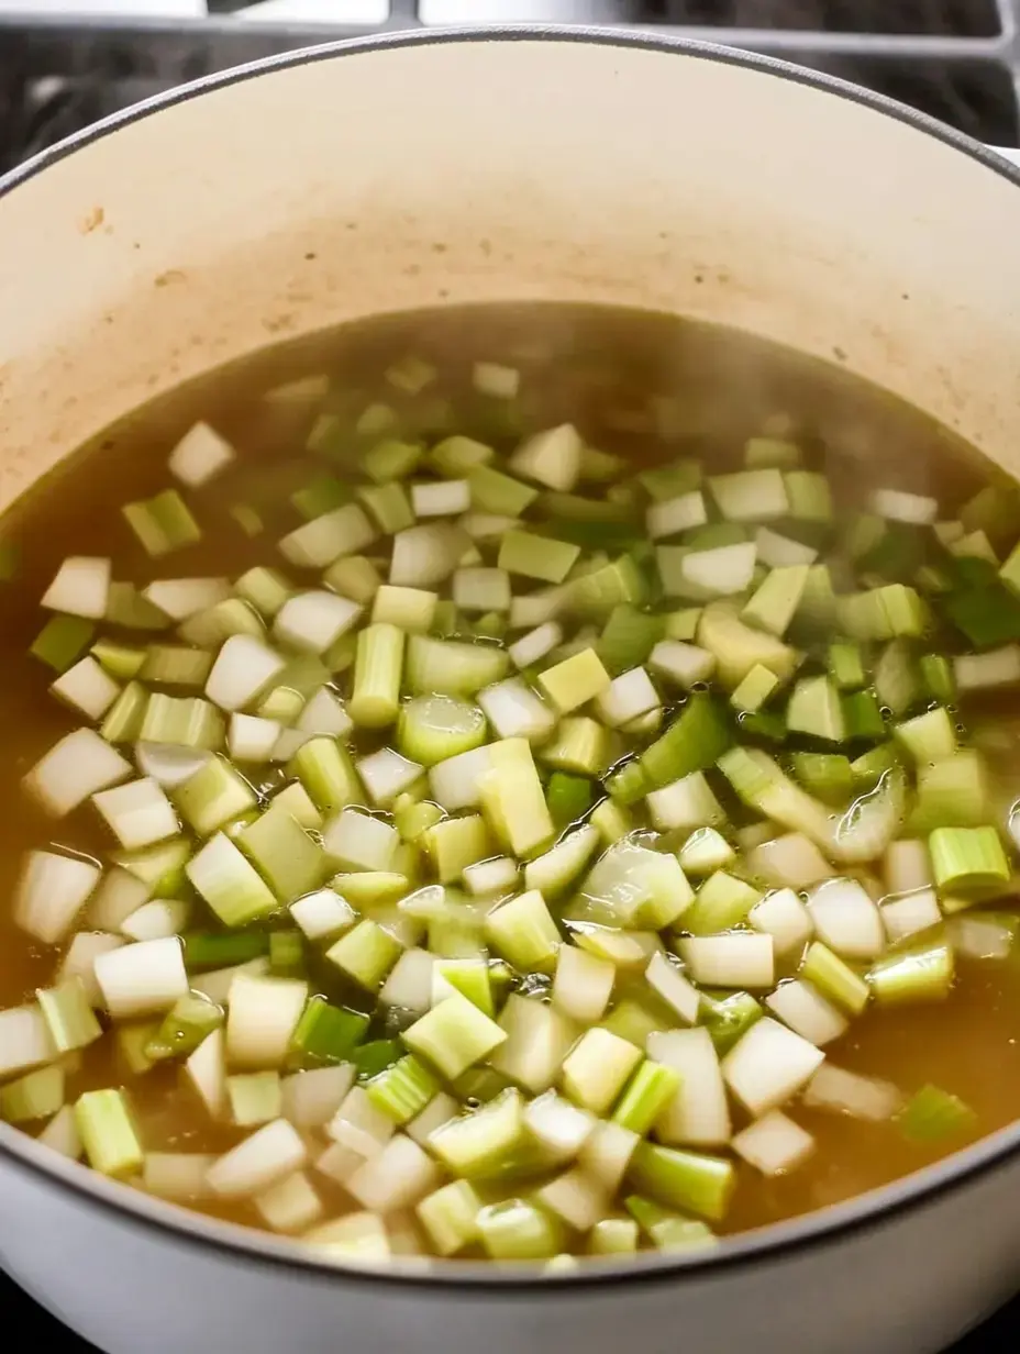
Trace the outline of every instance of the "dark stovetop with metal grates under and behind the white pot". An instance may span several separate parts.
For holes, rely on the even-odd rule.
[[[0,0],[0,172],[96,118],[238,62],[343,37],[526,22],[769,53],[979,141],[1020,145],[1020,0]],[[1,1271],[0,1309],[26,1349],[91,1349]],[[1020,1298],[954,1354],[1012,1343],[1017,1330]]]

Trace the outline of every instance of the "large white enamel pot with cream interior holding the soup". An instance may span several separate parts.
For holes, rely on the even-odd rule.
[[[1020,474],[1020,171],[780,62],[582,30],[228,72],[0,183],[0,508],[131,406],[378,310],[557,298],[833,355]],[[925,1354],[1017,1281],[1020,1129],[847,1205],[577,1274],[328,1266],[0,1125],[0,1261],[108,1354]]]

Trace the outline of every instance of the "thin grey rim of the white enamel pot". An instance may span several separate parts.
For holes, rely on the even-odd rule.
[[[64,138],[56,145],[33,156],[30,160],[0,175],[0,198],[12,192],[20,184],[57,164],[65,156],[88,146],[102,137],[118,131],[134,122],[157,114],[206,92],[222,89],[242,80],[251,80],[267,72],[317,61],[332,61],[341,57],[385,51],[391,47],[419,47],[435,43],[471,42],[578,42],[600,46],[637,47],[643,50],[675,53],[688,58],[714,61],[722,65],[744,66],[809,85],[824,93],[863,104],[875,112],[885,114],[906,123],[925,135],[941,141],[962,154],[977,160],[1002,179],[1020,187],[1020,162],[1013,164],[994,149],[958,131],[943,122],[918,112],[886,95],[875,93],[862,85],[851,84],[836,76],[792,65],[775,57],[722,43],[696,42],[681,37],[657,37],[653,32],[631,32],[620,28],[601,28],[588,24],[500,24],[478,28],[412,28],[402,32],[385,32],[367,38],[348,38],[326,42],[294,51],[284,51],[257,61],[232,66],[222,72],[203,76],[187,84],[144,99],[140,103],[111,114]],[[339,1263],[324,1259],[310,1251],[301,1250],[293,1239],[275,1238],[234,1223],[225,1223],[191,1212],[175,1204],[144,1194],[141,1190],[98,1175],[79,1162],[68,1160],[45,1148],[33,1137],[11,1125],[0,1122],[0,1155],[12,1159],[45,1183],[57,1185],[61,1190],[102,1209],[137,1228],[149,1228],[168,1233],[168,1239],[191,1243],[217,1251],[233,1251],[249,1261],[260,1262],[263,1267],[279,1267],[299,1271],[307,1278],[329,1282],[340,1275],[378,1290],[413,1289],[423,1297],[429,1293],[443,1300],[451,1290],[484,1296],[496,1293],[555,1293],[569,1289],[591,1289],[607,1281],[616,1289],[620,1285],[631,1288],[650,1284],[676,1282],[683,1277],[704,1274],[725,1274],[746,1267],[763,1258],[779,1259],[809,1247],[834,1246],[844,1238],[859,1232],[876,1229],[883,1219],[894,1217],[939,1197],[956,1193],[981,1177],[992,1174],[1020,1154],[1020,1121],[989,1135],[979,1143],[956,1152],[935,1166],[901,1177],[898,1181],[837,1205],[801,1215],[784,1223],[755,1228],[733,1238],[722,1238],[718,1247],[689,1255],[657,1255],[650,1252],[626,1261],[604,1261],[581,1266],[576,1273],[536,1274],[523,1269],[501,1270],[496,1266],[444,1261],[432,1270],[424,1270],[416,1258],[393,1257],[385,1266],[370,1267],[356,1261]]]

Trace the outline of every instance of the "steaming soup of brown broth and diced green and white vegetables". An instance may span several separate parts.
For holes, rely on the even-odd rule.
[[[199,436],[194,460],[175,460],[187,479],[215,468],[194,486],[168,460],[199,422],[233,458],[217,468]],[[200,540],[179,544],[187,524],[144,509],[141,535],[176,546],[153,556],[122,508],[168,489]],[[301,529],[348,504],[359,510],[325,546]],[[710,1244],[1009,1124],[1016,512],[1012,486],[883,393],[654,314],[373,318],[137,412],[4,529],[0,1009],[30,1011],[0,1016],[4,1117],[337,1258],[538,1261]],[[337,569],[336,555],[359,562]],[[198,620],[171,589],[176,619],[148,608],[163,628],[58,621],[47,665],[30,653],[56,615],[39,600],[76,556],[111,561],[112,580],[138,589],[229,586],[203,594]],[[313,597],[274,620],[289,593],[267,593],[263,574],[249,586],[259,567],[291,597],[351,605]],[[251,605],[224,609],[242,575],[264,626]],[[390,577],[417,592],[379,593]],[[137,596],[104,589],[102,566],[72,566],[56,601],[145,619]],[[290,666],[259,684],[238,628]],[[96,642],[100,662],[83,665]],[[175,645],[192,654],[148,647]],[[240,661],[217,658],[224,645]],[[321,665],[295,668],[302,649]],[[72,696],[102,714],[54,699],[65,669]],[[140,704],[126,709],[131,681]],[[194,718],[160,696],[194,697]],[[294,724],[317,737],[301,746]],[[131,766],[104,774],[88,739],[75,774],[50,774],[41,758],[77,728],[102,728]],[[175,779],[167,737],[221,758],[199,757],[191,791],[168,785],[171,804],[135,785],[144,772]],[[387,747],[469,761],[446,774],[385,754],[363,764]],[[65,812],[79,773],[102,785],[99,804]],[[310,799],[284,802],[267,827],[287,785]],[[130,914],[118,917],[125,904],[103,895],[112,857],[127,849],[144,873],[145,852],[179,827],[169,841],[186,849],[156,890],[172,906],[138,914],[152,886],[122,871]],[[103,883],[79,906],[80,877],[50,856],[26,873],[28,850],[95,861]],[[253,894],[238,860],[256,862]],[[61,984],[98,906],[110,932],[123,927],[121,948],[92,968],[77,941],[88,986]],[[168,959],[177,942],[158,945],[175,927],[187,978]],[[271,932],[283,938],[270,948]],[[245,1011],[221,1026],[217,1005],[184,994],[232,960],[251,965],[236,980]],[[41,1017],[37,992],[54,987]],[[225,992],[230,1006],[217,976],[213,995]],[[169,1056],[152,1062],[157,1034]],[[72,1048],[62,1060],[54,1037]],[[183,1071],[195,1047],[215,1114]],[[297,1090],[302,1068],[329,1067],[347,1071],[317,1074],[316,1095]],[[306,1120],[299,1132],[282,1113]],[[444,1131],[455,1114],[488,1116],[477,1140]],[[249,1159],[225,1155],[252,1135]]]

